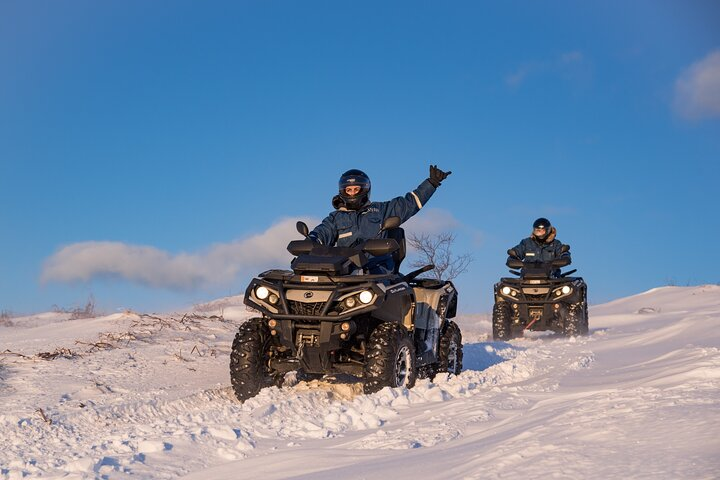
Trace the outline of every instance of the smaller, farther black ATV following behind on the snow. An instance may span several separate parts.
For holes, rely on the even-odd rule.
[[[568,252],[563,245],[562,252]],[[493,338],[522,337],[525,330],[552,330],[565,336],[587,335],[587,285],[577,270],[561,273],[569,257],[552,262],[523,262],[508,250],[510,273],[520,278],[501,278],[495,284]],[[519,271],[517,269],[520,269]]]

